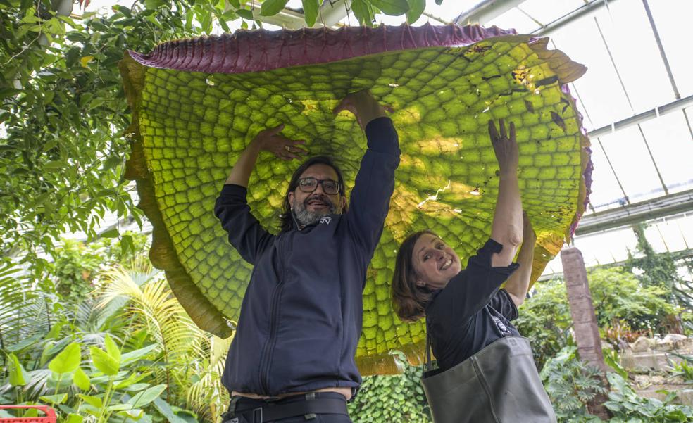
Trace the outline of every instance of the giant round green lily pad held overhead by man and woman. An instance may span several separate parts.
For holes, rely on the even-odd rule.
[[[464,262],[489,236],[498,188],[489,119],[516,123],[535,278],[584,210],[588,141],[562,86],[585,68],[547,39],[454,26],[239,32],[129,52],[120,68],[134,116],[128,177],[154,225],[151,260],[195,322],[220,336],[251,274],[213,215],[228,172],[258,131],[284,123],[312,154],[334,156],[351,188],[366,139],[353,115],[331,113],[349,92],[370,89],[392,108],[402,151],[363,294],[363,374],[397,371],[393,349],[422,358],[423,324],[400,322],[389,299],[406,234],[433,229]],[[263,153],[251,176],[251,210],[274,232],[298,165]]]

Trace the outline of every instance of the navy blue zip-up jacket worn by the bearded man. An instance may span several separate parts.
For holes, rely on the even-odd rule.
[[[361,384],[361,296],[399,165],[392,120],[369,122],[366,138],[349,212],[300,231],[270,234],[250,213],[246,189],[223,187],[214,213],[254,265],[222,377],[229,391],[277,396]]]

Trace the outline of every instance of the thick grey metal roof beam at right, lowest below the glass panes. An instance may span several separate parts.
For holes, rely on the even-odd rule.
[[[576,236],[693,211],[693,189],[582,217]]]

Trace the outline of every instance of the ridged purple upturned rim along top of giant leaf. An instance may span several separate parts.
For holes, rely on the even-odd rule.
[[[479,25],[342,27],[339,30],[239,30],[234,34],[159,44],[149,54],[130,51],[150,68],[206,73],[261,72],[289,66],[423,47],[468,46],[483,39],[517,34]]]

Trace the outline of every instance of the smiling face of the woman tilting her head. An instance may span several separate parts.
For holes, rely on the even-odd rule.
[[[416,284],[430,289],[442,289],[462,270],[460,258],[442,239],[422,234],[414,244],[412,263]]]

